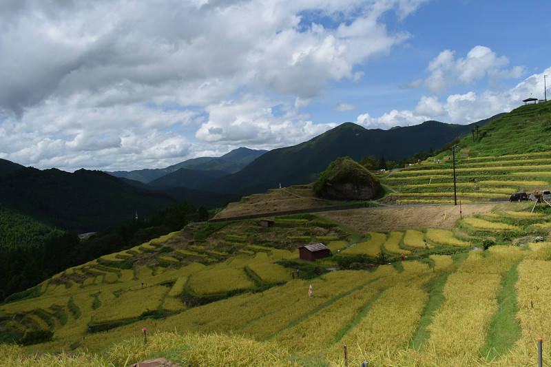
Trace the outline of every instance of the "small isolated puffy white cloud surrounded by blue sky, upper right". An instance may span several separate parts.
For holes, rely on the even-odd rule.
[[[454,51],[444,50],[428,64],[430,76],[425,79],[424,85],[430,92],[441,94],[453,85],[471,85],[486,76],[490,85],[495,85],[504,78],[519,78],[523,74],[523,67],[506,69],[508,64],[506,56],[497,56],[490,48],[481,45],[472,48],[466,57],[458,59]]]

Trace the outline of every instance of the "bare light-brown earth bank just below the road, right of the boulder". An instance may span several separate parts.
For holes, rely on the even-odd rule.
[[[497,203],[461,206],[461,216],[492,211]],[[459,219],[459,205],[386,207],[321,213],[355,231],[403,231],[405,229],[452,229]]]

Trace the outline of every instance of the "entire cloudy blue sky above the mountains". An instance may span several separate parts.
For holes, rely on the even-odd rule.
[[[0,158],[129,171],[346,122],[473,123],[545,98],[550,17],[518,0],[0,0]]]

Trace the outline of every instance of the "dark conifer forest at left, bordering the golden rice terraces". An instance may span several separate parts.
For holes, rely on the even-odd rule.
[[[0,207],[0,302],[13,293],[32,289],[67,267],[147,242],[190,221],[206,220],[207,216],[203,207],[198,210],[193,205],[176,205],[146,220],[129,220],[80,239],[76,233],[48,227]]]

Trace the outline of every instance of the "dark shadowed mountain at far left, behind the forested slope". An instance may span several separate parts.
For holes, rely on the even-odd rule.
[[[140,189],[101,171],[24,168],[0,177],[1,205],[77,232],[97,231],[190,202],[223,205],[228,198],[191,189]]]

